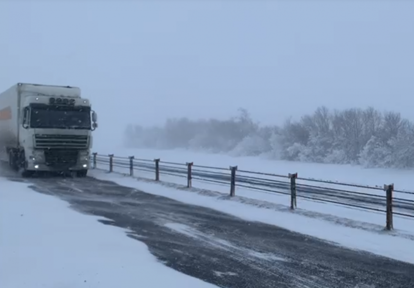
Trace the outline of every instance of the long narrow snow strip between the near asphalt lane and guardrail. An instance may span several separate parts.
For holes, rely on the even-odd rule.
[[[309,218],[296,213],[260,209],[239,202],[222,201],[218,197],[203,196],[184,190],[176,190],[156,183],[138,181],[120,174],[91,171],[91,176],[110,180],[119,185],[135,188],[147,193],[175,199],[177,201],[223,211],[248,221],[276,225],[288,230],[335,242],[351,249],[365,250],[400,261],[414,263],[414,241],[389,234],[372,233]]]

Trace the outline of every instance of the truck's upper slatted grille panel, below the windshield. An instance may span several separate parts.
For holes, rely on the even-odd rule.
[[[88,136],[35,134],[35,148],[86,149],[88,148]]]

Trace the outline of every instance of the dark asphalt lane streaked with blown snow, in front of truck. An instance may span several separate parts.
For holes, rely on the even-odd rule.
[[[414,265],[275,226],[89,177],[6,176],[31,182],[34,191],[64,199],[78,211],[111,219],[101,222],[132,230],[128,236],[148,245],[165,265],[219,287],[414,287]]]

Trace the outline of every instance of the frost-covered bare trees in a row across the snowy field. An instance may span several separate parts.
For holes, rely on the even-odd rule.
[[[396,112],[372,107],[329,110],[319,107],[300,120],[260,125],[247,110],[225,120],[186,117],[163,126],[128,125],[125,144],[136,148],[227,153],[236,156],[364,167],[414,167],[414,124]]]

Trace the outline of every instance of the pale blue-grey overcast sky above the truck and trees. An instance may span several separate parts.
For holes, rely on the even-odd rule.
[[[97,135],[247,108],[281,123],[320,105],[414,120],[414,1],[0,0],[0,90],[72,85]]]

